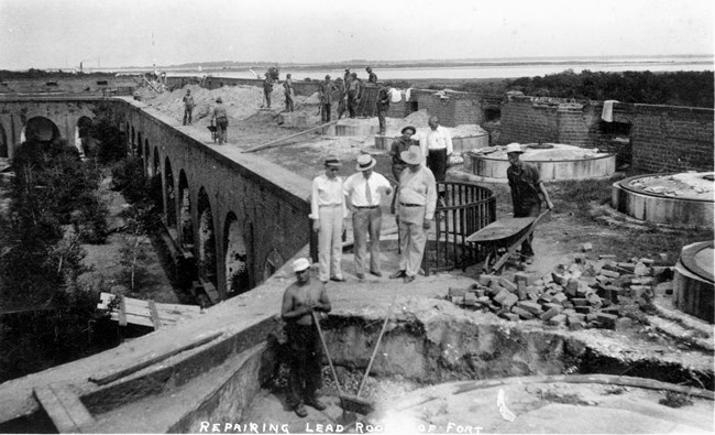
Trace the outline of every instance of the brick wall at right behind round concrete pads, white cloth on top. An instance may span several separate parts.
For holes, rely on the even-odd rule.
[[[616,154],[647,172],[713,171],[713,109],[509,96],[496,144],[557,142]]]

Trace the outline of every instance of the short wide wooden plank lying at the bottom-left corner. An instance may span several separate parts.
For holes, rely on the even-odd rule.
[[[61,434],[76,434],[95,422],[79,398],[67,387],[36,387],[33,393]]]

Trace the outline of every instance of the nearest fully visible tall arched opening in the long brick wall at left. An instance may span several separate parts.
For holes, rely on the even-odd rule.
[[[226,287],[229,297],[248,292],[251,290],[249,250],[239,219],[233,213],[229,213],[226,217],[223,246],[226,249]]]

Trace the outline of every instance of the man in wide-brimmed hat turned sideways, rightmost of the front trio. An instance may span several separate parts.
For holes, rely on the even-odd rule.
[[[422,165],[425,154],[413,145],[400,153],[407,168],[399,177],[397,191],[397,226],[399,229],[399,270],[389,278],[415,281],[419,272],[427,243],[427,230],[431,227],[437,206],[437,186],[432,172]]]

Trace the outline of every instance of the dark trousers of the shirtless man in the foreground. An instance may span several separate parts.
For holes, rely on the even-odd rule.
[[[320,337],[315,325],[288,324],[286,335],[290,346],[288,404],[297,406],[315,399],[316,391],[322,387]]]

